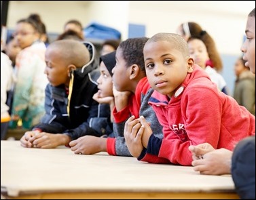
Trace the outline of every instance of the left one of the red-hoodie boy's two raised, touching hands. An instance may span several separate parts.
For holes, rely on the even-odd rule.
[[[134,116],[130,117],[124,125],[124,138],[130,154],[133,157],[139,157],[143,151],[141,136],[143,135],[145,126],[141,125],[139,119]]]

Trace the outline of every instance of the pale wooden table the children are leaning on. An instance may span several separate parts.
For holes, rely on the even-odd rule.
[[[1,195],[10,199],[238,199],[231,176],[143,163],[62,146],[23,148],[1,141]]]

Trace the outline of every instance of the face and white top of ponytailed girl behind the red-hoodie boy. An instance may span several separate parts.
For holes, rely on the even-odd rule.
[[[205,37],[207,37],[207,35]],[[189,47],[189,56],[194,59],[195,64],[198,64],[204,69],[204,71],[206,71],[206,73],[211,78],[211,81],[213,81],[213,83],[216,83],[217,87],[221,92],[229,94],[227,89],[227,83],[225,82],[223,77],[219,73],[217,73],[214,67],[207,65],[210,58],[204,41],[196,37],[189,37],[187,44]],[[217,51],[213,52],[217,53]],[[212,57],[215,57],[215,54],[212,54]]]

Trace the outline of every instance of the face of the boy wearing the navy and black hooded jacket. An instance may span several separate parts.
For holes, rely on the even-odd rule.
[[[44,73],[52,86],[56,87],[62,84],[69,86],[69,69],[65,60],[61,59],[58,54],[60,54],[58,49],[52,49],[51,47],[46,49]]]

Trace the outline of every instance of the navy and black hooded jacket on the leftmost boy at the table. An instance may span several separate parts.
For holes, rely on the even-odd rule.
[[[91,60],[71,73],[71,94],[68,96],[65,85],[53,87],[48,84],[45,89],[45,115],[34,128],[53,134],[64,133],[72,140],[106,134],[110,109],[108,104],[98,104],[92,99],[98,91],[96,80],[100,72],[94,61],[94,46],[90,42],[84,44],[89,49]]]

